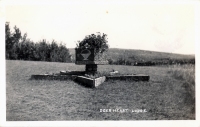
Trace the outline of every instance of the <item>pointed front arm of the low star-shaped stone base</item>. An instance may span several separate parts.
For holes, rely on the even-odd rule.
[[[76,81],[80,82],[81,84],[87,86],[87,87],[91,87],[91,88],[95,88],[98,87],[100,84],[102,84],[104,81],[106,80],[106,77],[99,77],[99,78],[88,78],[85,76],[77,76],[76,77]]]

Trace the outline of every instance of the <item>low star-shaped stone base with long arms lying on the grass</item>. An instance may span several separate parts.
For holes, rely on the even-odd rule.
[[[90,66],[91,67],[91,66]],[[93,66],[92,68],[96,68]],[[88,67],[89,68],[89,67]],[[85,77],[86,72],[81,71],[61,71],[60,74],[41,74],[32,75],[31,79],[36,80],[75,80],[86,87],[96,88],[102,84],[105,80],[131,80],[131,81],[149,81],[150,76],[143,74],[132,74],[132,75],[110,75],[102,76],[98,78]],[[82,75],[82,76],[81,76]]]

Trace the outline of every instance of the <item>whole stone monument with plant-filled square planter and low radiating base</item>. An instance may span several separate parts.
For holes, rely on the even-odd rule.
[[[106,52],[108,50],[106,34],[88,35],[75,48],[75,64],[85,65],[85,71],[60,71],[56,74],[32,75],[31,79],[74,80],[85,86],[97,87],[106,80],[149,81],[150,77],[143,74],[121,75],[118,71],[110,75],[98,74],[98,65],[108,64]],[[96,75],[97,74],[97,75]]]

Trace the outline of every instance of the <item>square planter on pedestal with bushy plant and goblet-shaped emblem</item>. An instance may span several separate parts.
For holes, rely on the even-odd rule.
[[[107,35],[100,33],[86,36],[82,41],[78,41],[76,52],[76,64],[86,65],[85,71],[97,73],[98,64],[108,64],[105,52],[108,50]]]

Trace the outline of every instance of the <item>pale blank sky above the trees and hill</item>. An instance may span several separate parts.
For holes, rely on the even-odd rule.
[[[32,1],[8,2],[5,10],[10,27],[34,42],[54,39],[74,48],[100,32],[108,35],[110,48],[195,54],[196,11],[190,3]]]

